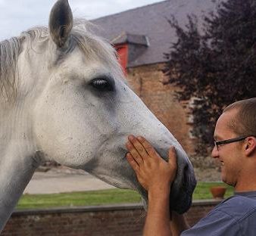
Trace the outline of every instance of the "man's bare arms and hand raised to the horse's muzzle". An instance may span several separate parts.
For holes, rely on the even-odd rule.
[[[148,191],[148,213],[144,236],[180,235],[188,228],[182,215],[170,216],[170,186],[176,176],[176,151],[169,151],[169,160],[163,160],[145,138],[129,136],[126,157],[136,172],[137,179]],[[171,219],[171,221],[170,221]]]

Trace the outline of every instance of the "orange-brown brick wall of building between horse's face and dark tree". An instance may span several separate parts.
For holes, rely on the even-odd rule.
[[[158,120],[170,130],[189,155],[194,153],[193,140],[189,137],[188,117],[183,104],[174,101],[173,85],[164,85],[163,64],[151,64],[127,69],[131,88]]]

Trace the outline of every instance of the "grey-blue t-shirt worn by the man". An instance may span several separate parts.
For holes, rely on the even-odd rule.
[[[256,235],[256,191],[237,192],[223,200],[183,236]]]

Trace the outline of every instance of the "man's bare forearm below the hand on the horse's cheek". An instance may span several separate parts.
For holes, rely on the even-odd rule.
[[[161,194],[158,191],[148,192],[148,213],[145,220],[143,236],[170,236],[170,190]]]

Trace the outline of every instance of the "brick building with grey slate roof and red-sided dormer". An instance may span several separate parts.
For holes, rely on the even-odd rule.
[[[176,41],[175,31],[167,19],[172,14],[185,26],[187,15],[201,17],[214,10],[217,1],[168,0],[93,20],[120,54],[127,80],[142,101],[167,126],[183,148],[193,153],[186,108],[173,99],[173,85],[164,85],[164,52]],[[199,18],[200,19],[200,18]],[[199,20],[200,25],[200,20]]]

